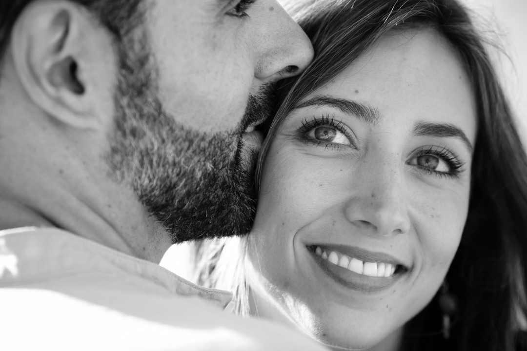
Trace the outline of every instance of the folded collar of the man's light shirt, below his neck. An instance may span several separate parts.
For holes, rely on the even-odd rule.
[[[225,308],[232,294],[204,288],[157,264],[56,228],[0,230],[0,287],[80,271],[139,276],[178,296],[198,296]]]

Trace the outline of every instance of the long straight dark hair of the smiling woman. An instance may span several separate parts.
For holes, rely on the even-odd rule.
[[[486,43],[467,10],[455,0],[305,0],[289,10],[313,42],[315,58],[299,77],[282,81],[275,117],[264,128],[259,169],[281,122],[299,101],[343,72],[377,39],[393,29],[432,28],[440,33],[458,53],[477,105],[469,213],[446,277],[458,308],[451,336],[444,339],[438,294],[406,324],[401,349],[523,349],[527,157]],[[224,244],[198,245],[200,283],[219,287],[222,266],[216,272],[214,268]],[[231,287],[238,295],[247,291],[246,283]]]

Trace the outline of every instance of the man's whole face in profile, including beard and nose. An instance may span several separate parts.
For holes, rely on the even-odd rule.
[[[247,232],[251,125],[310,62],[306,35],[272,0],[152,1],[142,31],[121,47],[110,165],[173,242]]]

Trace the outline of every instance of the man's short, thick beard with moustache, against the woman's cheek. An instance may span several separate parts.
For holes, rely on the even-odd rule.
[[[266,87],[251,95],[237,128],[203,133],[164,111],[147,54],[123,54],[128,57],[121,58],[126,66],[119,74],[106,157],[112,177],[132,187],[172,243],[248,233],[256,211],[258,155],[242,152],[241,133],[269,116],[274,91]]]

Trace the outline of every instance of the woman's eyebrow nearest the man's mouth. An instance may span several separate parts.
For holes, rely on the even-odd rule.
[[[331,96],[315,96],[306,102],[298,104],[295,108],[312,107],[312,106],[330,106],[339,109],[347,115],[353,115],[362,119],[369,125],[375,125],[380,121],[378,111],[366,104],[353,100]]]

